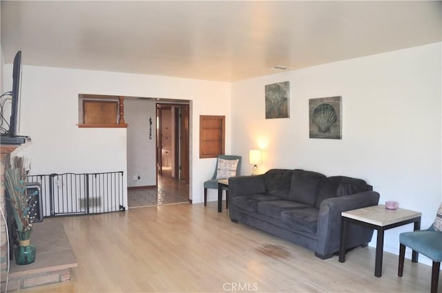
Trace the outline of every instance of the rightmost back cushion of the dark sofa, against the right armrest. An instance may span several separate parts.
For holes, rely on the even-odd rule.
[[[316,208],[324,199],[331,197],[355,194],[369,190],[369,185],[362,179],[356,179],[345,176],[331,176],[320,181],[318,186],[318,198],[316,199]]]

